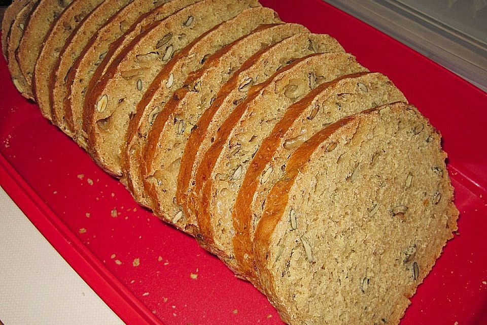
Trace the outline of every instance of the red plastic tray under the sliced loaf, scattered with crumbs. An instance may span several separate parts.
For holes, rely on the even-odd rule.
[[[338,39],[388,75],[441,131],[461,212],[401,324],[487,323],[487,94],[319,1],[262,0],[283,20]],[[24,100],[0,59],[0,185],[96,293],[129,324],[282,324],[266,298],[195,240],[135,204]]]

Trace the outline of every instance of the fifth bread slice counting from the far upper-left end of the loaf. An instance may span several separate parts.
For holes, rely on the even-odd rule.
[[[74,135],[74,129],[65,121],[63,102],[67,94],[67,73],[73,67],[75,59],[81,54],[91,37],[103,24],[127,6],[131,0],[104,0],[74,29],[66,40],[53,69],[50,72],[48,87],[49,106],[53,122],[69,136]]]

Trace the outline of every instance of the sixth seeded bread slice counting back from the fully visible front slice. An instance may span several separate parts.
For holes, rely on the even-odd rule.
[[[272,9],[256,7],[243,10],[236,17],[222,22],[191,42],[158,73],[137,104],[135,116],[128,125],[127,137],[122,143],[122,182],[127,183],[137,202],[149,206],[140,177],[142,145],[157,113],[168,102],[172,92],[182,87],[188,75],[201,68],[206,59],[223,46],[249,34],[261,24],[277,22],[281,20]]]

